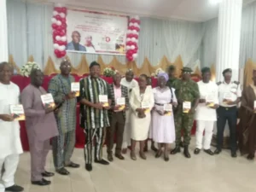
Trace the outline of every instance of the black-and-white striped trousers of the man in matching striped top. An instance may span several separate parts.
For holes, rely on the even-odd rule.
[[[84,145],[84,160],[86,164],[92,163],[92,147],[94,138],[96,138],[94,160],[102,160],[102,147],[104,138],[103,127],[96,129],[84,129],[85,145]]]

